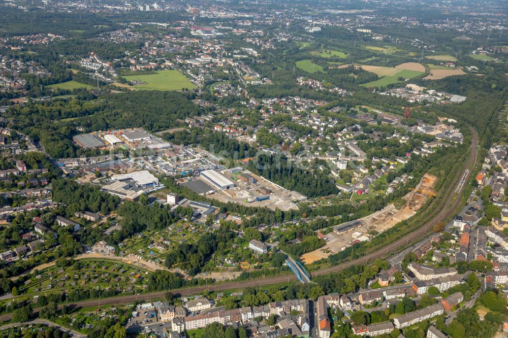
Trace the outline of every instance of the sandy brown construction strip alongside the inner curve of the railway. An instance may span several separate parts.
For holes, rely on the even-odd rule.
[[[302,255],[300,258],[306,263],[311,264],[323,258],[340,252],[355,243],[368,241],[369,230],[383,232],[390,229],[398,222],[408,219],[415,215],[422,208],[427,199],[435,196],[433,187],[437,178],[425,174],[414,189],[410,189],[403,200],[405,204],[397,209],[393,204],[386,206],[382,210],[376,211],[366,217],[357,220],[358,225],[347,228],[344,231],[332,231],[327,233],[327,243],[324,247]],[[335,228],[340,229],[341,226]]]

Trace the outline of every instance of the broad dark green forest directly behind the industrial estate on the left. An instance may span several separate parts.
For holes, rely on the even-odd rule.
[[[205,112],[192,98],[192,92],[135,91],[108,94],[95,101],[28,102],[10,107],[7,116],[14,129],[39,141],[51,157],[75,157],[90,151],[73,144],[75,126],[87,131],[133,127],[162,130],[177,125],[178,119]]]

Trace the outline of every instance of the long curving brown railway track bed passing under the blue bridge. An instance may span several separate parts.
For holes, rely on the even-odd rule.
[[[314,276],[317,275],[326,275],[334,272],[341,271],[342,269],[346,267],[350,267],[352,265],[357,264],[364,264],[367,263],[370,260],[375,260],[376,258],[380,258],[385,256],[389,252],[396,252],[398,249],[403,248],[407,245],[408,242],[416,241],[418,239],[423,238],[425,233],[427,231],[431,230],[432,227],[437,224],[438,222],[447,219],[450,217],[454,210],[457,208],[457,206],[460,204],[460,196],[464,190],[464,188],[467,186],[467,184],[460,184],[460,181],[464,174],[467,172],[465,176],[465,182],[469,180],[472,174],[472,169],[474,168],[474,165],[477,161],[478,156],[478,133],[471,128],[472,133],[472,139],[471,139],[471,153],[469,155],[469,158],[464,164],[464,167],[462,169],[462,172],[460,175],[458,175],[450,187],[447,189],[442,205],[442,209],[440,212],[438,212],[433,218],[431,218],[427,223],[419,227],[418,229],[409,232],[405,236],[401,237],[400,239],[396,240],[395,242],[392,242],[388,244],[387,246],[378,249],[374,252],[371,252],[361,258],[357,258],[355,260],[347,261],[344,263],[341,263],[339,265],[327,267],[320,269],[318,271],[312,272]],[[457,191],[456,191],[457,190]],[[457,194],[455,193],[457,192]],[[255,280],[248,280],[248,281],[236,281],[236,282],[229,282],[224,284],[217,284],[217,285],[209,285],[209,286],[198,286],[198,287],[190,287],[190,288],[184,288],[179,290],[172,290],[172,292],[175,295],[185,296],[185,295],[192,295],[196,293],[200,293],[206,290],[209,291],[221,291],[221,290],[228,290],[228,289],[239,289],[239,288],[245,288],[247,286],[261,286],[261,285],[269,285],[269,284],[276,284],[276,283],[283,283],[288,282],[290,280],[296,280],[296,276],[291,275],[277,275],[277,276],[269,276],[264,278],[259,278]],[[128,304],[134,301],[142,301],[142,300],[150,300],[150,299],[157,299],[157,298],[164,298],[164,295],[167,291],[158,291],[158,292],[151,292],[151,293],[144,293],[139,295],[120,295],[115,297],[108,297],[106,299],[98,300],[84,300],[79,301],[75,303],[68,303],[69,307],[101,307],[106,305],[118,305],[118,304]],[[61,307],[61,306],[60,306]],[[34,310],[35,312],[38,311],[38,309]],[[6,314],[0,316],[0,320],[10,320],[11,314]]]

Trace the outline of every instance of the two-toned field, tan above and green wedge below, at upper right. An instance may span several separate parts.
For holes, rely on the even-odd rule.
[[[400,82],[399,78],[412,79],[425,73],[425,66],[416,62],[406,62],[395,67],[362,65],[364,70],[377,74],[380,79],[362,84],[364,87],[384,87]]]

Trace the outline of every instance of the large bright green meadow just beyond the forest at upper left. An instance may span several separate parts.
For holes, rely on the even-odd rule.
[[[196,88],[186,77],[175,70],[157,71],[157,74],[124,76],[128,81],[141,81],[146,84],[135,85],[134,89],[144,90],[181,90]]]

